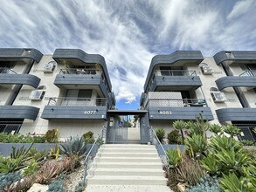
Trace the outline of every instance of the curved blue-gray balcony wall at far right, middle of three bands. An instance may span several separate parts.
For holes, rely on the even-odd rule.
[[[232,86],[256,87],[256,77],[228,76],[219,78],[215,82],[219,90]]]

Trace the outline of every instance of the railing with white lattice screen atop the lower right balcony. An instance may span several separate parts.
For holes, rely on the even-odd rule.
[[[145,108],[148,106],[203,107],[207,106],[207,103],[205,99],[149,99]]]

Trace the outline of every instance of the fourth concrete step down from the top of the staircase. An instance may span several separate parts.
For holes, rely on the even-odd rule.
[[[159,157],[95,157],[95,162],[159,162]]]

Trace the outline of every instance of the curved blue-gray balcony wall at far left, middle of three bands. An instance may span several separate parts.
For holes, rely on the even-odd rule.
[[[0,84],[28,85],[37,88],[40,80],[31,74],[0,74]]]

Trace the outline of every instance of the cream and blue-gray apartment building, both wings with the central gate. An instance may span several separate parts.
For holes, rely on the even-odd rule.
[[[0,49],[0,132],[45,134],[65,139],[107,127],[107,141],[128,141],[122,118],[135,115],[140,142],[149,126],[166,133],[175,120],[233,124],[240,139],[256,141],[256,51],[201,51],[156,55],[149,65],[140,110],[114,110],[105,59],[78,49]],[[130,120],[130,119],[128,119]]]

